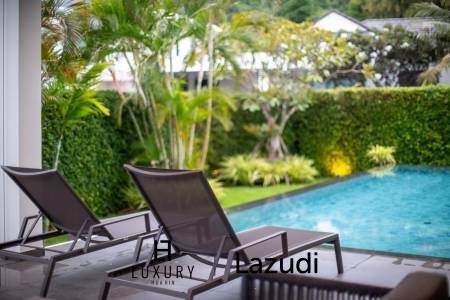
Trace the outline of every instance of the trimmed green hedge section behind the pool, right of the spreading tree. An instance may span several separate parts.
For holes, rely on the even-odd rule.
[[[371,145],[394,146],[400,164],[450,165],[450,87],[347,88],[316,91],[286,131],[291,151],[328,173],[330,156],[353,171],[370,167]]]

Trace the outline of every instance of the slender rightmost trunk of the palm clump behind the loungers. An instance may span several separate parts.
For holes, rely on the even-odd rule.
[[[203,138],[203,148],[202,148],[202,158],[200,160],[199,169],[203,169],[206,164],[206,158],[208,156],[208,148],[209,148],[209,139],[211,136],[211,123],[212,123],[212,108],[213,108],[213,99],[212,99],[212,88],[213,88],[213,73],[214,73],[214,32],[213,32],[213,24],[209,22],[209,37],[208,37],[208,60],[209,60],[209,69],[208,69],[208,118],[206,119],[206,128],[205,128],[205,136]]]

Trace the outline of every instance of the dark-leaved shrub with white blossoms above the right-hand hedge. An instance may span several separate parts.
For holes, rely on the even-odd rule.
[[[401,26],[387,25],[382,30],[340,36],[358,52],[349,65],[330,70],[328,87],[348,85],[348,80],[362,86],[416,86],[418,75],[438,58],[438,48],[433,43],[418,43],[415,35]],[[353,71],[361,62],[371,69],[369,80]]]

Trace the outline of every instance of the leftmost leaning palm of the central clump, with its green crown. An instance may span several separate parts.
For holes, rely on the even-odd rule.
[[[91,13],[95,20],[91,36],[97,45],[99,59],[108,60],[112,56],[123,58],[132,74],[136,97],[126,98],[119,92],[122,99],[120,106],[134,100],[146,112],[145,122],[150,124],[159,159],[167,161],[161,126],[158,126],[156,120],[157,97],[163,88],[159,83],[165,81],[160,70],[161,61],[164,61],[162,57],[170,47],[169,39],[172,35],[167,30],[167,25],[174,19],[173,8],[166,8],[158,1],[94,0],[91,3]],[[133,112],[130,111],[130,114],[135,120]],[[146,132],[145,128],[141,130],[137,122],[133,124],[144,146],[143,135],[150,135],[150,132]]]

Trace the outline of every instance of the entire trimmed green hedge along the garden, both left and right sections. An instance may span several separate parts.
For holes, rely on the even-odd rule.
[[[110,108],[115,92],[99,92]],[[450,87],[349,88],[316,91],[312,104],[293,116],[284,138],[292,154],[315,161],[329,173],[331,156],[353,171],[370,166],[371,145],[394,146],[401,164],[450,166]],[[51,167],[57,142],[58,114],[53,105],[42,112],[43,166]],[[210,170],[227,156],[250,153],[257,140],[244,127],[260,124],[259,113],[238,110],[234,127],[225,132],[215,124],[208,156]],[[126,209],[124,190],[130,181],[122,165],[132,159],[137,140],[127,115],[117,128],[112,118],[92,116],[66,132],[59,169],[76,192],[100,216]]]

